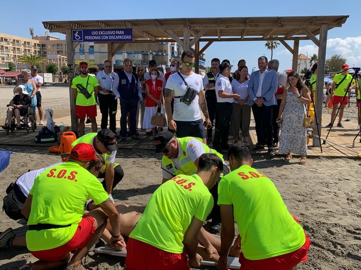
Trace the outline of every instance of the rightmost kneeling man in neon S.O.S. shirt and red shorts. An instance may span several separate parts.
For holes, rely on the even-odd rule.
[[[221,206],[221,256],[217,268],[227,270],[227,256],[235,234],[242,246],[240,270],[289,270],[307,260],[310,240],[284,204],[274,183],[252,168],[247,144],[239,142],[228,150],[231,171],[219,183]]]

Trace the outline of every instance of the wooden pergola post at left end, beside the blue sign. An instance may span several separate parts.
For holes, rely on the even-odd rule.
[[[72,40],[72,29],[66,30],[66,44],[67,44],[67,59],[68,59],[68,79],[69,79],[69,97],[70,97],[70,119],[71,119],[71,131],[78,136],[79,122],[75,113],[75,96],[71,87],[73,77],[75,76],[75,64],[74,64],[74,48]]]

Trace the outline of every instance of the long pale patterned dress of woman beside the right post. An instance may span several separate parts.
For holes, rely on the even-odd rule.
[[[305,111],[303,102],[293,92],[287,92],[282,113],[279,153],[307,155],[306,128],[303,127]]]

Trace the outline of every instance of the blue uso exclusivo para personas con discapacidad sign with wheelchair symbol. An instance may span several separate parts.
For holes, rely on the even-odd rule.
[[[133,41],[133,29],[77,29],[72,30],[73,42]]]

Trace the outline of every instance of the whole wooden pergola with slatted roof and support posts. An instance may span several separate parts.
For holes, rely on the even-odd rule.
[[[341,27],[348,15],[332,16],[286,16],[286,17],[207,17],[207,18],[161,18],[161,19],[119,19],[119,20],[74,20],[43,21],[50,32],[66,34],[67,56],[70,69],[73,68],[74,50],[79,44],[72,41],[73,29],[133,29],[134,43],[177,42],[184,50],[194,46],[196,72],[199,70],[199,55],[217,41],[267,41],[278,40],[293,55],[292,69],[297,69],[300,40],[312,40],[318,46],[318,73],[324,74],[327,31]],[[270,35],[275,37],[270,37]],[[316,36],[319,35],[317,38]],[[293,46],[286,41],[292,40]],[[200,48],[200,42],[207,42]],[[125,42],[107,42],[108,59],[111,59]],[[72,48],[72,49],[71,49]],[[71,81],[69,81],[71,83]],[[70,84],[71,85],[71,84]],[[70,87],[70,86],[69,86]],[[317,77],[315,113],[321,128],[323,97],[323,76]],[[70,98],[73,94],[70,89]],[[72,130],[78,130],[75,106],[71,102]],[[313,146],[319,146],[313,140]]]

